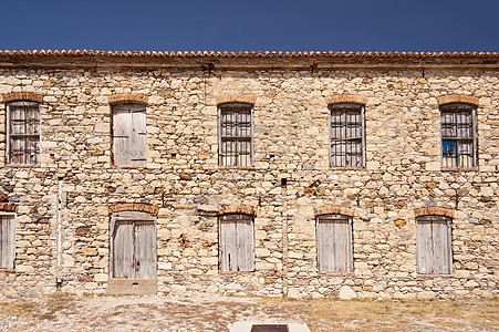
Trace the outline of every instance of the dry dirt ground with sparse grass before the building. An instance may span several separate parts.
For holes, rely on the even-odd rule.
[[[237,321],[311,331],[499,331],[499,300],[287,300],[55,293],[0,299],[1,331],[228,331]]]

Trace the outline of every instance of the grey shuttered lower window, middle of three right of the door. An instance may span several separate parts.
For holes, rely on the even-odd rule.
[[[353,271],[352,217],[344,215],[318,216],[316,237],[320,273]]]

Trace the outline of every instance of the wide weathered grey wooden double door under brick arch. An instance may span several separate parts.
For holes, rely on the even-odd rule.
[[[115,222],[113,277],[156,278],[156,235],[153,221]]]

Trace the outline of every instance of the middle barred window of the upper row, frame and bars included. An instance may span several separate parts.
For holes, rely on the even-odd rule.
[[[223,104],[218,107],[220,166],[253,166],[253,107]]]

